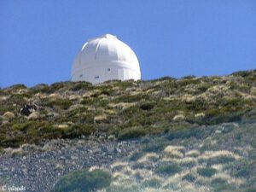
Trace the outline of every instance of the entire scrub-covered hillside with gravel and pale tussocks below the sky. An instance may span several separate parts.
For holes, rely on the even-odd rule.
[[[16,84],[0,90],[0,106],[0,186],[256,191],[256,70]]]

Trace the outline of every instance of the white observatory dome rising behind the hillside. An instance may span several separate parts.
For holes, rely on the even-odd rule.
[[[98,84],[111,79],[141,79],[137,56],[113,35],[89,39],[73,62],[72,81]]]

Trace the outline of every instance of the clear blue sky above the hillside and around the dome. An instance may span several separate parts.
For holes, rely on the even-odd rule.
[[[143,79],[256,68],[255,0],[0,0],[0,87],[69,80],[105,33],[134,49]]]

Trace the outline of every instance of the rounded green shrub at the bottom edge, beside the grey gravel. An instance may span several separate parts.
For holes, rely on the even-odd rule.
[[[91,192],[106,188],[111,183],[111,175],[102,170],[88,170],[69,173],[55,183],[51,192]]]

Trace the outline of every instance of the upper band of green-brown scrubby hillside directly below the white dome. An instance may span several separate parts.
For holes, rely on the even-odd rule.
[[[256,119],[256,70],[223,77],[16,84],[0,90],[0,147],[91,134],[119,140]]]

